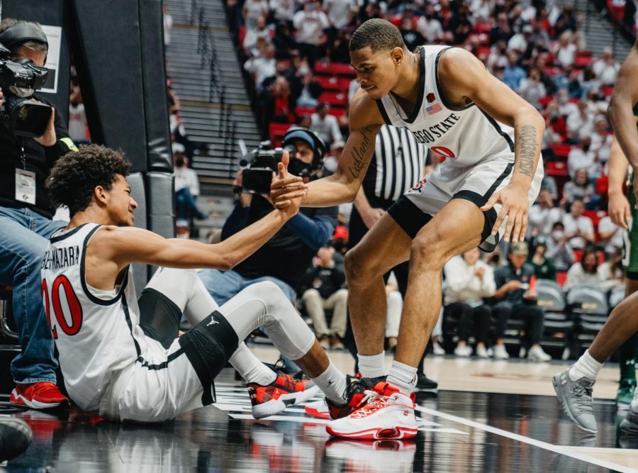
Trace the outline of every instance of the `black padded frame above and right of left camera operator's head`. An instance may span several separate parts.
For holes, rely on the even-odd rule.
[[[71,60],[69,56],[69,5],[65,0],[4,0],[2,18],[38,21],[43,25],[62,27],[62,43],[57,72],[57,93],[41,92],[55,104],[62,117],[69,120],[69,75]]]

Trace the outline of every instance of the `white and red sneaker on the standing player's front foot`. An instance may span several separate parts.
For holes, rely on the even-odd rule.
[[[413,438],[418,431],[414,394],[406,396],[396,386],[379,382],[366,390],[362,407],[326,425],[330,435],[360,440]]]

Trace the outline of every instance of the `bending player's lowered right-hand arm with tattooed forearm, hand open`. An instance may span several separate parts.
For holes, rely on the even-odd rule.
[[[471,52],[452,48],[439,62],[439,79],[447,98],[462,104],[472,101],[488,116],[515,129],[515,162],[510,184],[495,192],[487,204],[487,211],[494,204],[501,205],[492,234],[496,235],[500,224],[507,217],[504,239],[513,242],[525,239],[527,231],[527,193],[538,165],[545,121],[538,111],[518,96],[515,91],[490,74]]]

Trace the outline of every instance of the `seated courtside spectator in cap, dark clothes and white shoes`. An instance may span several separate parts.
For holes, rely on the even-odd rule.
[[[525,338],[530,345],[527,350],[527,358],[536,362],[552,360],[539,345],[543,334],[545,314],[536,305],[536,290],[532,286],[535,280],[534,269],[525,265],[527,261],[527,243],[512,243],[508,250],[508,265],[499,267],[494,271],[496,292],[493,307],[496,316],[496,345],[494,357],[506,359],[509,357],[505,350],[505,329],[510,318],[520,318],[525,324]]]

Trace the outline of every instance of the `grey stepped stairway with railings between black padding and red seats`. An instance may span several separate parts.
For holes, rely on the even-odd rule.
[[[241,155],[259,144],[259,132],[228,30],[221,0],[168,0],[173,17],[166,50],[173,90],[189,139],[204,146],[191,167],[202,182],[228,183]]]

